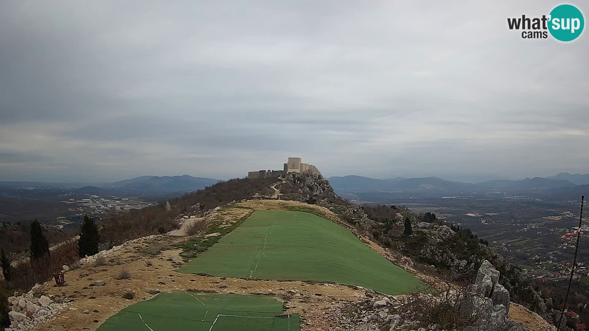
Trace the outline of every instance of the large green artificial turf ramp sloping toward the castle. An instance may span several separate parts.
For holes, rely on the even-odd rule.
[[[300,211],[257,210],[178,272],[355,284],[393,295],[421,285],[348,229]]]

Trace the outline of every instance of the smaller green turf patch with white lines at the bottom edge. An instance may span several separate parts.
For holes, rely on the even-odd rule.
[[[282,313],[275,296],[175,291],[121,310],[98,331],[300,331],[299,316]]]

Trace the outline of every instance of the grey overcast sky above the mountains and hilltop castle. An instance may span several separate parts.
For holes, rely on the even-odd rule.
[[[0,180],[589,173],[589,31],[507,28],[558,4],[2,1]]]

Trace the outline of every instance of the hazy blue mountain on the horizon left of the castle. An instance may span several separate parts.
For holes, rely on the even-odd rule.
[[[205,177],[183,176],[141,176],[109,184],[122,190],[187,191],[219,183],[220,180]]]

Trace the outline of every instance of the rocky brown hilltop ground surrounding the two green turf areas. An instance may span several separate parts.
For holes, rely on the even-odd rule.
[[[432,216],[412,214],[403,207],[378,209],[346,203],[325,178],[313,174],[287,178],[279,189],[284,198],[299,201],[251,200],[261,191],[250,190],[241,200],[206,204],[210,207],[194,197],[186,203],[173,200],[161,204],[168,213],[178,210],[174,220],[180,230],[197,221],[209,224],[209,228],[172,235],[174,230],[103,246],[104,250],[85,257],[75,268],[64,268],[67,286],[55,286],[50,280],[26,294],[14,293],[8,300],[11,327],[6,330],[95,330],[130,304],[178,289],[280,296],[286,313],[300,315],[302,330],[554,329],[515,303],[514,293],[517,298],[525,290],[519,281],[514,282],[518,278],[510,276],[517,269],[466,230],[435,221]],[[304,210],[340,224],[421,279],[425,287],[383,296],[343,284],[176,273],[207,245],[236,229],[254,210],[264,209]],[[408,219],[412,233],[403,236],[402,224]],[[448,244],[458,242],[457,238],[464,243]],[[551,304],[544,304],[545,315],[549,314],[547,306]]]

